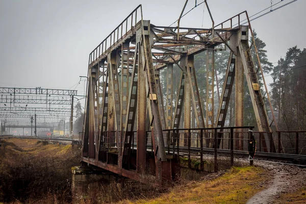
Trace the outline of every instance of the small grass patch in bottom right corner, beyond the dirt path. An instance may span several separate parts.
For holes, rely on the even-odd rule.
[[[294,193],[285,193],[277,198],[274,203],[306,203],[306,187],[299,189]]]

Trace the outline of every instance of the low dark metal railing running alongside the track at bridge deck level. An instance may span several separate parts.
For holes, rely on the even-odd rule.
[[[306,155],[306,131],[248,131],[252,128],[252,126],[244,126],[211,129],[171,129],[163,131],[163,139],[167,154],[177,154],[180,149],[190,150],[191,152],[193,149],[209,150],[214,148],[248,151],[249,140],[252,136],[256,141],[257,152],[275,152],[271,146],[265,145],[265,143],[271,144],[271,141],[273,141],[275,153]],[[221,129],[222,132],[220,132]],[[118,134],[120,135],[120,132]],[[268,136],[268,142],[264,134]],[[137,147],[137,132],[134,131],[133,134],[128,134],[126,141],[130,140],[130,135],[133,135],[131,139],[132,148]],[[108,148],[117,147],[116,131],[106,131],[104,141]],[[118,143],[121,144],[121,138],[119,138]],[[153,151],[150,131],[146,132],[146,146],[147,150]]]

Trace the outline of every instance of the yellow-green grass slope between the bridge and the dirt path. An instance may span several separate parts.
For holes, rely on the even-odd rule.
[[[258,167],[233,167],[224,175],[207,182],[176,186],[154,199],[123,200],[119,203],[245,203],[261,191],[267,174]]]

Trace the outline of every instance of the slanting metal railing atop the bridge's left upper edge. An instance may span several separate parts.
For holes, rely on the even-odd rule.
[[[128,15],[114,30],[109,34],[98,46],[96,46],[89,54],[89,65],[103,55],[117,41],[122,39],[125,34],[133,30],[137,22],[142,19],[142,7],[139,5]]]

